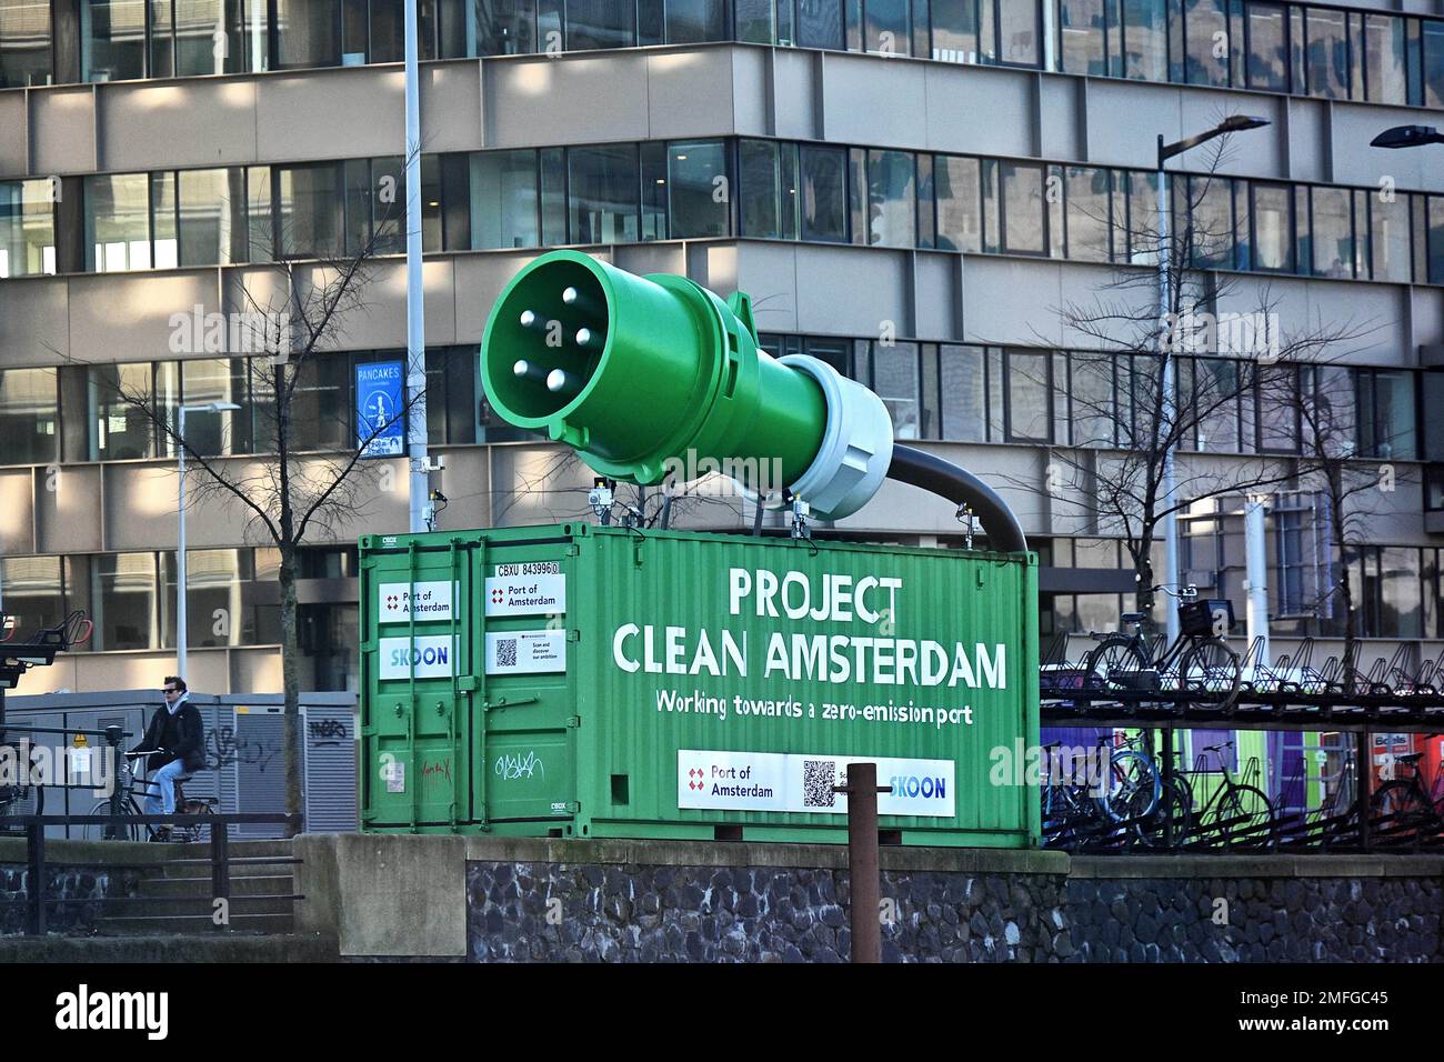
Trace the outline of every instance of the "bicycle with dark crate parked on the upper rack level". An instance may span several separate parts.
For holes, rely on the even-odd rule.
[[[1160,587],[1173,594],[1167,587]],[[1243,685],[1239,655],[1219,637],[1217,626],[1233,627],[1233,605],[1225,600],[1200,601],[1196,587],[1184,587],[1178,598],[1178,639],[1162,647],[1164,636],[1144,633],[1144,613],[1123,613],[1134,633],[1092,634],[1099,643],[1083,657],[1089,685],[1113,692],[1204,694],[1223,709],[1233,704]]]

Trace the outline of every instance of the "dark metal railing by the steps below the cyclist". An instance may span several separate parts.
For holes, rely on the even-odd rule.
[[[114,822],[136,824],[136,825],[202,825],[211,828],[211,839],[206,842],[209,845],[209,855],[204,860],[211,864],[211,893],[206,897],[191,897],[192,900],[206,900],[211,903],[211,909],[217,910],[224,906],[227,910],[234,902],[247,900],[303,900],[305,896],[299,893],[289,893],[284,896],[231,896],[231,867],[235,864],[257,865],[257,864],[299,864],[300,860],[295,855],[235,855],[230,854],[230,826],[232,825],[276,825],[276,824],[290,824],[297,829],[302,826],[303,815],[284,815],[284,813],[253,813],[253,815],[17,815],[12,819],[17,825],[25,826],[25,855],[26,855],[26,896],[23,900],[0,900],[0,905],[26,905],[26,926],[25,932],[30,936],[42,936],[46,932],[46,905],[51,903],[91,903],[91,905],[105,905],[114,902],[124,902],[127,905],[134,903],[183,903],[185,897],[172,896],[71,896],[71,897],[49,897],[49,863],[45,852],[45,828],[58,825],[107,825]],[[160,858],[156,865],[175,865],[175,864],[191,864],[196,860],[182,858]],[[126,864],[117,864],[117,868]],[[217,900],[224,900],[224,905],[217,905]],[[215,920],[212,919],[212,926],[219,931],[228,931],[230,918]]]

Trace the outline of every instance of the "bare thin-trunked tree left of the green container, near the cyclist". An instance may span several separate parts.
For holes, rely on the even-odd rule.
[[[303,806],[296,598],[300,549],[310,542],[332,540],[341,523],[365,516],[367,501],[375,497],[374,481],[390,470],[377,472],[362,458],[371,455],[373,444],[390,435],[394,425],[404,422],[416,402],[403,399],[396,409],[380,413],[344,448],[302,452],[310,438],[303,402],[313,386],[316,361],[342,344],[352,316],[367,314],[374,260],[383,249],[390,249],[400,228],[391,214],[400,210],[396,201],[403,192],[394,186],[384,191],[378,201],[388,205],[368,225],[360,247],[305,263],[277,259],[234,279],[232,299],[241,309],[221,321],[227,327],[225,353],[240,347],[251,354],[245,371],[253,399],[254,457],[230,461],[201,452],[180,436],[179,422],[149,393],[124,386],[118,377],[113,384],[118,400],[153,425],[172,452],[185,452],[198,474],[188,504],[217,500],[230,511],[238,510],[245,520],[245,539],[270,545],[279,553],[286,808],[292,813]],[[261,247],[251,257],[269,259],[269,251]],[[406,366],[403,373],[413,368],[419,367]],[[178,587],[178,592],[183,590]]]

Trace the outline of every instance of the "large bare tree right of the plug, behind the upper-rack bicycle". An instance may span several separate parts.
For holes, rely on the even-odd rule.
[[[1167,240],[1152,205],[1155,186],[1149,182],[1142,195],[1132,189],[1129,224],[1115,218],[1112,225],[1112,259],[1126,264],[1092,298],[1057,308],[1064,335],[1080,337],[1070,345],[1090,351],[1073,357],[1071,436],[1050,451],[1041,483],[1009,477],[1050,497],[1083,533],[1121,536],[1145,614],[1155,603],[1152,549],[1165,517],[1294,474],[1266,452],[1269,445],[1253,454],[1252,439],[1238,438],[1258,431],[1256,403],[1269,374],[1354,334],[1321,325],[1287,332],[1269,285],[1245,293],[1238,277],[1219,272],[1239,267],[1249,251],[1246,227],[1233,223],[1232,182],[1217,175],[1227,153],[1229,137],[1222,137],[1207,149],[1204,175],[1173,175]],[[1106,218],[1095,227],[1109,231]],[[1160,260],[1168,264],[1162,299]],[[1243,309],[1220,312],[1235,306]],[[1167,462],[1180,451],[1194,455],[1175,465],[1168,498]],[[1175,572],[1164,574],[1164,585],[1174,579]]]

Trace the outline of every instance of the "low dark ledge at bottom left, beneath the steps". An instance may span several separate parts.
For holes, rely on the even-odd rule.
[[[335,962],[325,936],[0,936],[9,962]]]

